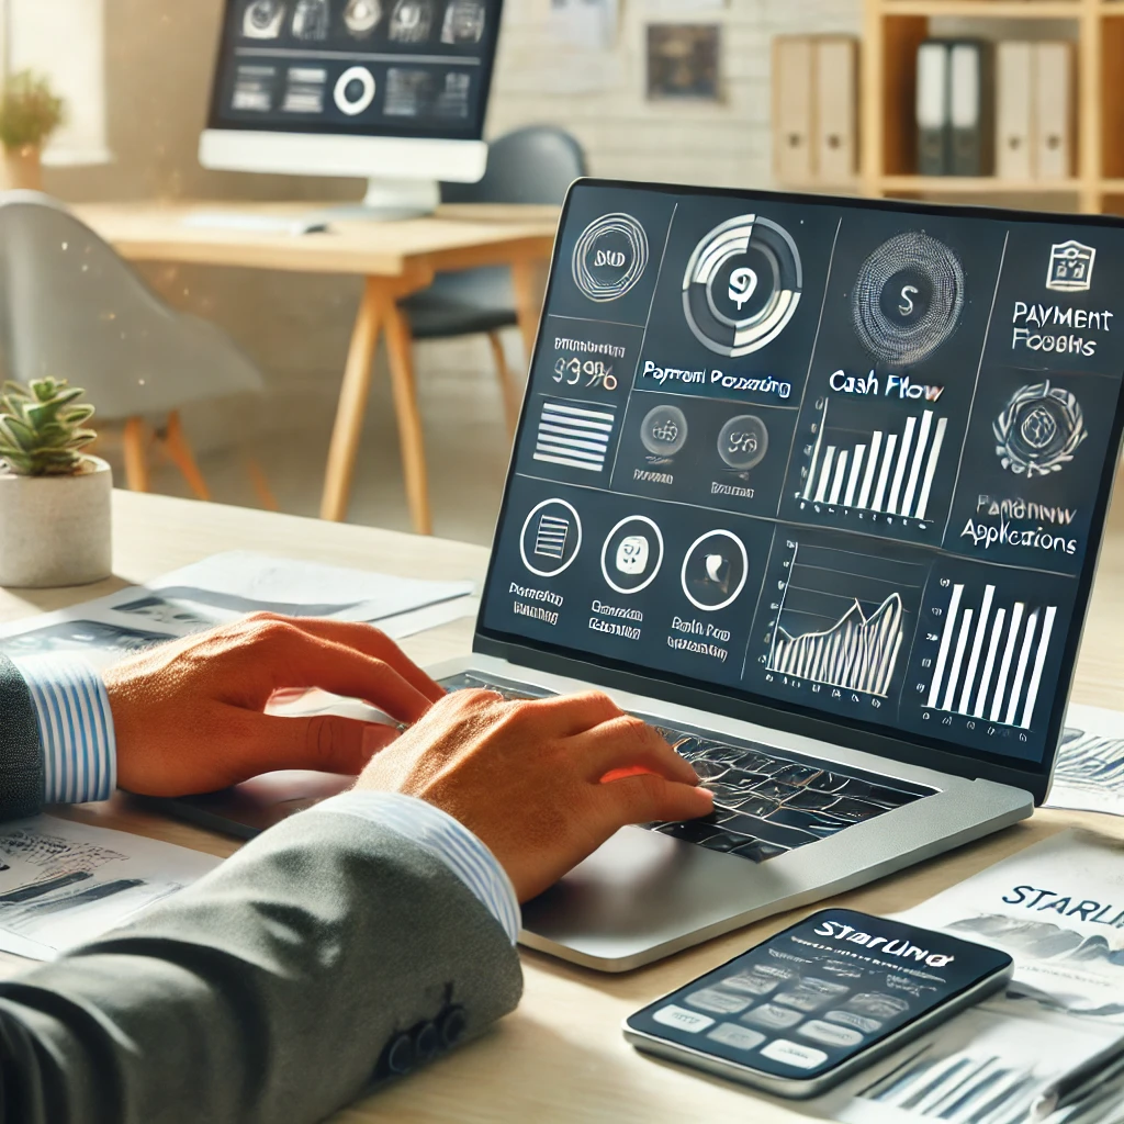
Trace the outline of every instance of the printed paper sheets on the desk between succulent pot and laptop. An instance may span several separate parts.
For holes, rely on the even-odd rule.
[[[401,640],[473,616],[472,592],[471,581],[422,581],[230,551],[145,586],[17,620],[0,629],[0,650],[81,651],[109,662],[257,611],[369,622]]]

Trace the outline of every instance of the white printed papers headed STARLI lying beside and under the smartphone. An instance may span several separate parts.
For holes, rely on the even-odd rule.
[[[1015,960],[1006,996],[813,1103],[847,1124],[1026,1124],[1052,1081],[1124,1035],[1124,847],[1062,832],[899,915]],[[1120,1124],[1124,1078],[1050,1124]]]

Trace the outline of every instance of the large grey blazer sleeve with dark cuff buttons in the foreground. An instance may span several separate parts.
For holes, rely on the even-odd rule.
[[[392,831],[311,810],[0,984],[0,1120],[323,1120],[519,999],[502,927]]]

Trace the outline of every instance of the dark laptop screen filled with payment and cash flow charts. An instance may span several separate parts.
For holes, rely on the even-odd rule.
[[[579,183],[482,633],[1040,771],[1122,317],[1109,223]]]

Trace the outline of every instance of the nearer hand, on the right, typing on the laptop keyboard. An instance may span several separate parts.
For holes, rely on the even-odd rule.
[[[355,787],[447,812],[526,901],[625,824],[707,815],[713,797],[697,785],[651,726],[600,692],[506,703],[457,691],[373,758]]]

